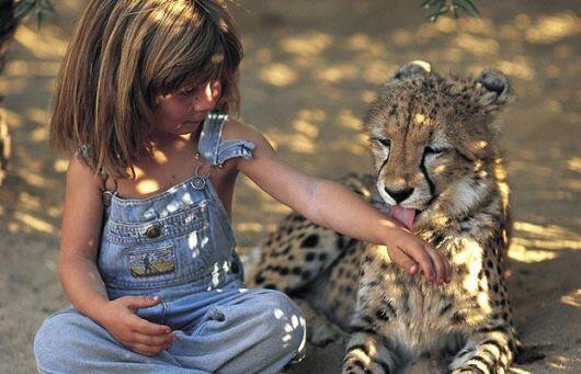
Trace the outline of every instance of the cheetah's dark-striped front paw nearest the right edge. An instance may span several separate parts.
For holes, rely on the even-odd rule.
[[[464,349],[456,354],[449,370],[453,374],[506,373],[513,360],[511,345],[510,335],[504,331],[477,333],[470,337]]]

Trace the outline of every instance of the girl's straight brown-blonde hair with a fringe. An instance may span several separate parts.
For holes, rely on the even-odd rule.
[[[220,0],[89,0],[65,55],[50,146],[95,172],[127,177],[150,152],[160,94],[220,81],[217,110],[239,105],[242,46]]]

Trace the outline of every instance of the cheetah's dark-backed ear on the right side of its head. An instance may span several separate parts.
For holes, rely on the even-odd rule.
[[[499,70],[483,70],[476,78],[476,84],[481,90],[479,103],[486,111],[498,110],[513,99],[509,78]]]

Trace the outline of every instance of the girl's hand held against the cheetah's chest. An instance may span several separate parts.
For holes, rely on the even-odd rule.
[[[413,275],[421,269],[435,284],[449,283],[452,268],[448,260],[407,229],[396,228],[386,247],[391,260],[409,274]]]

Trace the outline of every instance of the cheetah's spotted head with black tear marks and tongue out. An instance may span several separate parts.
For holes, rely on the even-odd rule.
[[[365,117],[383,200],[415,224],[469,214],[503,179],[494,116],[511,98],[497,70],[447,79],[428,63],[400,67]]]

